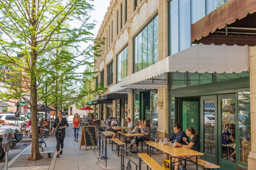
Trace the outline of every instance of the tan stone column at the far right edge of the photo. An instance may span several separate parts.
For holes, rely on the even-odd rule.
[[[256,47],[250,47],[251,151],[248,169],[256,169]]]

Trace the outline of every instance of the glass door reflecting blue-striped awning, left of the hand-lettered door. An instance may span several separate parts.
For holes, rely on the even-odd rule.
[[[217,95],[201,97],[201,152],[202,159],[217,164]]]

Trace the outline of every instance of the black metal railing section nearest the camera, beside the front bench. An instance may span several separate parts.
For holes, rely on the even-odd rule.
[[[126,150],[123,146],[120,146],[120,147],[121,147],[121,170],[132,170],[132,169],[134,169],[134,168],[132,167],[131,162],[135,165],[136,170],[138,170],[138,168],[139,168],[139,170],[141,170],[141,162],[142,162],[141,158],[140,158],[140,157],[137,157],[137,156],[134,155],[132,152]],[[126,156],[125,152],[126,152],[126,153],[129,153],[130,155]],[[137,159],[138,164],[135,163],[135,161],[132,160],[132,159],[130,158],[130,156],[133,156],[135,159]],[[126,158],[129,160],[128,163],[127,163],[127,165],[124,164],[124,157],[126,157]]]

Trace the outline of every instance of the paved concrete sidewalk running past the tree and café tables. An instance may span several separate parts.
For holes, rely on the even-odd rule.
[[[105,167],[105,162],[103,159],[100,159],[99,153],[97,150],[94,150],[94,147],[90,148],[87,147],[87,151],[85,150],[85,146],[81,146],[80,148],[80,140],[81,140],[81,129],[79,131],[78,142],[74,141],[74,131],[72,128],[72,118],[69,118],[69,127],[66,128],[66,134],[64,139],[64,149],[62,155],[59,158],[56,158],[57,151],[56,151],[56,138],[55,137],[48,137],[46,140],[47,147],[43,147],[44,152],[40,153],[47,153],[47,152],[54,152],[54,156],[51,162],[51,165],[47,166],[27,166],[27,167],[20,167],[20,168],[8,168],[10,170],[81,170],[81,169],[90,169],[90,170],[120,170],[121,169],[121,156],[117,156],[116,145],[114,145],[112,151],[111,144],[109,144],[109,140],[107,140],[107,167]],[[42,145],[44,146],[44,144]],[[139,146],[140,147],[140,146]],[[144,145],[143,147],[144,153],[146,153],[147,146]],[[41,148],[40,148],[41,151]],[[28,146],[24,151],[20,154],[30,154],[31,152],[31,145]],[[119,154],[121,151],[119,152]],[[19,156],[19,155],[18,155]],[[18,157],[17,156],[17,157]],[[129,156],[130,158],[134,158]],[[162,165],[163,155],[154,154],[152,158],[156,160],[160,165]],[[15,158],[11,160],[8,164],[15,161]],[[138,159],[134,159],[137,163]],[[128,159],[124,158],[124,165],[125,169],[128,163]],[[132,169],[135,169],[135,165],[131,163]],[[200,167],[200,166],[199,166]],[[141,164],[142,169],[146,169],[146,164]],[[195,166],[190,167],[190,169],[195,169]],[[202,168],[199,168],[202,170]]]

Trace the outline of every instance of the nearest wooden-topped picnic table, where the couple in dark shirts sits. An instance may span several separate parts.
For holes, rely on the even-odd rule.
[[[147,142],[147,145],[150,146],[150,157],[151,157],[151,154],[153,152],[156,152],[158,150],[161,150],[165,153],[168,153],[170,155],[170,164],[171,164],[171,167],[172,167],[172,164],[176,163],[176,162],[179,162],[179,161],[182,161],[182,160],[185,160],[185,165],[186,165],[186,160],[188,161],[191,161],[191,158],[193,156],[196,156],[196,167],[197,167],[197,170],[198,170],[198,162],[197,162],[197,156],[202,156],[204,155],[203,153],[201,152],[197,152],[197,151],[194,151],[194,150],[191,150],[191,149],[188,149],[186,147],[174,147],[174,146],[169,146],[169,145],[163,145],[163,144],[160,144],[160,143],[154,143],[154,142]],[[153,151],[151,152],[151,147],[154,147],[156,148],[157,150],[156,151]],[[179,158],[180,160],[179,161],[176,161],[176,162],[172,162],[172,157],[174,158],[178,158],[180,156],[184,156],[186,157],[185,159],[181,159]]]

